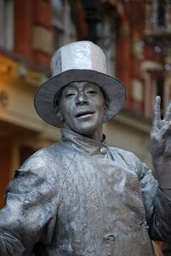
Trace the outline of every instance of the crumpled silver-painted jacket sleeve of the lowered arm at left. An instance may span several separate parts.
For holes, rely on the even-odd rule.
[[[31,255],[37,242],[48,243],[54,233],[59,201],[54,163],[33,156],[15,172],[0,211],[0,255]]]

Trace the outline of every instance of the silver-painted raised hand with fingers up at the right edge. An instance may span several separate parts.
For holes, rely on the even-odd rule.
[[[156,97],[151,128],[151,156],[153,158],[171,157],[171,102],[161,119],[161,98]]]

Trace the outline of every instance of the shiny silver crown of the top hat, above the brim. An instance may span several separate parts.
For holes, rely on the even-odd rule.
[[[66,44],[54,52],[51,60],[52,75],[70,69],[90,69],[106,73],[105,55],[99,46],[81,41]]]

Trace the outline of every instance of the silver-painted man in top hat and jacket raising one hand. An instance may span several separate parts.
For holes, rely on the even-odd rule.
[[[151,240],[171,242],[171,103],[154,105],[151,157],[157,180],[137,157],[108,147],[102,124],[125,101],[122,82],[88,42],[52,57],[53,76],[35,108],[62,138],[15,172],[0,211],[0,255],[151,256]]]

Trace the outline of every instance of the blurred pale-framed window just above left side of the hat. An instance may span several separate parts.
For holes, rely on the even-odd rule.
[[[52,0],[54,25],[54,50],[75,41],[76,28],[71,20],[71,6],[68,0]]]

